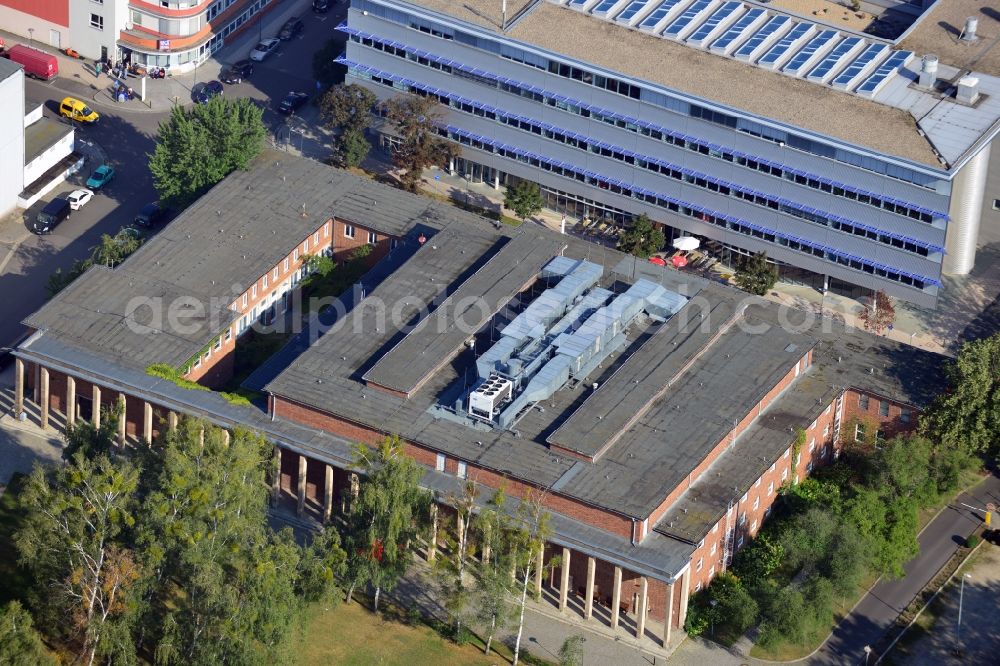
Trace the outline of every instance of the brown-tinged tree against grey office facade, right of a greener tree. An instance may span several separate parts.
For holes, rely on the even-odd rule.
[[[416,192],[423,170],[447,163],[458,155],[458,147],[437,133],[442,113],[436,99],[401,95],[389,100],[385,109],[401,139],[392,153],[392,163],[402,170],[403,186]]]

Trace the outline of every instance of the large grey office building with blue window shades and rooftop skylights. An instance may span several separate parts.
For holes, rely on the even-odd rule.
[[[342,62],[380,98],[446,105],[463,176],[538,182],[578,218],[646,213],[729,261],[766,251],[785,280],[934,305],[1000,223],[996,13],[953,48],[940,25],[970,3],[935,3],[896,42],[779,4],[354,0]]]

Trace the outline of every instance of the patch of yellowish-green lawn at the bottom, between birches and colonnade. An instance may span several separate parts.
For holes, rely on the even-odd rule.
[[[359,603],[341,603],[329,609],[324,604],[309,606],[290,642],[290,652],[296,655],[296,663],[303,666],[491,666],[510,663],[500,655],[486,656],[471,644],[456,645],[424,624],[410,626],[387,617],[376,617]]]

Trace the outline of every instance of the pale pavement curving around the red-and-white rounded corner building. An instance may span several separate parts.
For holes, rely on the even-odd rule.
[[[261,32],[265,36],[276,34],[289,17],[308,11],[309,7],[310,0],[274,0],[272,8],[266,10],[263,16]],[[86,100],[88,104],[93,103],[98,109],[114,109],[116,113],[164,113],[175,104],[181,106],[193,104],[191,92],[198,83],[218,79],[226,65],[246,58],[258,39],[256,21],[255,18],[253,26],[237,35],[232,41],[227,40],[222,49],[207,58],[195,70],[168,76],[165,79],[147,79],[145,101],[140,101],[138,98],[124,103],[114,101],[110,93],[113,77],[107,72],[96,75],[93,60],[70,58],[37,40],[30,45],[52,53],[59,59],[59,76],[48,84],[52,89]],[[8,44],[28,43],[24,37],[3,30],[0,30],[0,37],[3,37]],[[122,83],[132,87],[138,96],[140,81],[139,77],[129,76],[128,79],[123,79]]]

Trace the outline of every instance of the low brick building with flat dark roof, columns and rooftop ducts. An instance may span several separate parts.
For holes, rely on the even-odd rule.
[[[71,405],[70,418],[81,395],[106,404],[124,396],[125,434],[146,441],[180,413],[257,428],[275,443],[276,496],[320,520],[356,482],[352,444],[398,435],[442,504],[464,479],[480,485],[481,501],[501,487],[515,501],[540,496],[553,528],[543,558],[561,565],[535,584],[583,621],[627,625],[657,642],[670,641],[690,594],[753,538],[783,483],[832,460],[845,437],[905,430],[940,383],[934,354],[825,330],[696,276],[544,229],[495,229],[287,157],[234,174],[122,267],[93,270],[69,293],[114,286],[102,291],[103,311],[118,312],[134,295],[124,285],[141,292],[151,283],[135,267],[167,261],[159,252],[171,251],[173,266],[218,263],[215,243],[231,236],[217,227],[236,228],[220,217],[243,220],[259,251],[262,238],[275,239],[219,308],[226,326],[253,315],[242,295],[290,252],[294,261],[295,243],[300,259],[369,240],[384,255],[333,330],[313,330],[314,320],[301,344],[247,380],[266,406],[150,377],[149,354],[167,347],[154,342],[140,356],[139,341],[179,331],[97,335],[111,330],[97,307],[67,315],[58,299],[28,321],[37,330],[16,352],[18,390],[33,387],[43,414]],[[185,252],[179,240],[196,222],[198,251]],[[319,245],[306,248],[316,233]],[[172,358],[191,358],[204,345],[194,338],[173,343]],[[133,343],[127,351],[123,340]],[[439,522],[446,515],[435,513]]]

